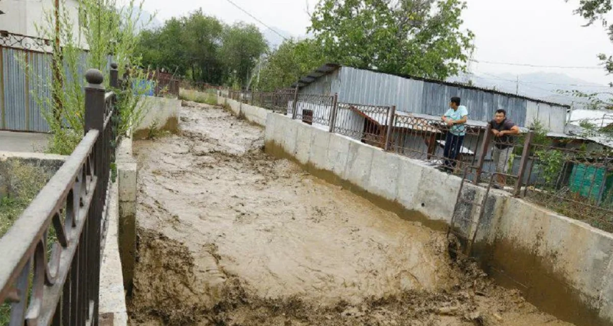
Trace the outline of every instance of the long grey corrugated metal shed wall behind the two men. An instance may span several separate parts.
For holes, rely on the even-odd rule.
[[[435,116],[443,115],[452,96],[459,96],[462,105],[468,108],[470,119],[489,121],[495,110],[503,108],[509,118],[520,126],[528,127],[538,118],[550,131],[564,132],[566,124],[566,107],[562,105],[549,105],[480,89],[413,80],[351,67],[341,67],[334,74],[318,78],[300,92],[338,93],[339,102],[396,105],[398,111]]]

